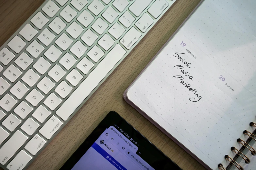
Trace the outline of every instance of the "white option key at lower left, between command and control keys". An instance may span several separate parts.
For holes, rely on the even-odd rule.
[[[46,144],[46,141],[38,134],[34,135],[32,139],[24,147],[32,155],[36,155],[37,152]]]

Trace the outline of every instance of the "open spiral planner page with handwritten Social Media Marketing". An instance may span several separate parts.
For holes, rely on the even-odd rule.
[[[124,93],[207,169],[256,169],[255,7],[202,1]]]

